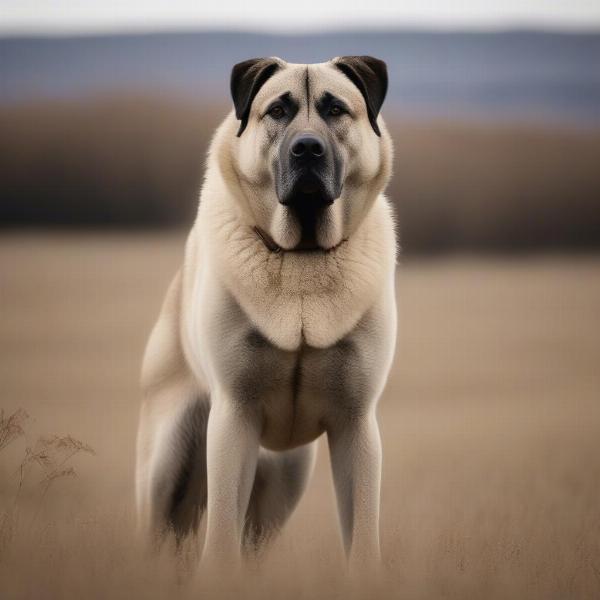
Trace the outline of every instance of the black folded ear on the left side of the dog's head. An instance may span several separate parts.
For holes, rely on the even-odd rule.
[[[279,63],[272,58],[251,58],[238,63],[231,70],[231,97],[235,106],[235,116],[241,121],[238,137],[248,125],[254,97],[278,68]]]

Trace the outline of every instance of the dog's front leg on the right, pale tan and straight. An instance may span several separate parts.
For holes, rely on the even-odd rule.
[[[375,411],[343,419],[328,431],[346,556],[352,569],[379,563],[381,440]]]

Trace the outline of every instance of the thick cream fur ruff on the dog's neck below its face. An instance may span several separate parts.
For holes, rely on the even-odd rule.
[[[254,327],[282,350],[331,346],[393,285],[394,228],[383,196],[329,251],[280,248],[238,218],[233,198],[212,195],[210,187],[196,225],[206,261]]]

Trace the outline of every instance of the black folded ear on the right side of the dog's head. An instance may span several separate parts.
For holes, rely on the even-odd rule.
[[[373,131],[381,136],[377,115],[387,93],[387,66],[372,56],[340,56],[335,66],[360,90],[367,104],[367,114]]]

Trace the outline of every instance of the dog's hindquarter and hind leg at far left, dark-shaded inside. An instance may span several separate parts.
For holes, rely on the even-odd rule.
[[[180,277],[175,277],[152,332],[142,374],[137,439],[140,529],[154,541],[194,531],[206,507],[209,401],[189,372],[179,343]]]

